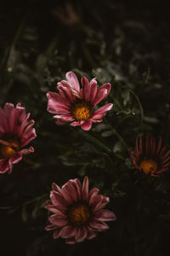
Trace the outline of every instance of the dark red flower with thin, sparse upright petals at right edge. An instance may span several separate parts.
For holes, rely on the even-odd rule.
[[[133,160],[133,165],[145,174],[157,176],[167,171],[170,165],[170,150],[167,150],[167,146],[161,148],[161,137],[159,137],[157,148],[154,137],[146,136],[145,145],[142,137],[136,138],[135,157],[131,150],[128,153]]]

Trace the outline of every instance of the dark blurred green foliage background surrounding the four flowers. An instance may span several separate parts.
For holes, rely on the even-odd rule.
[[[143,134],[170,144],[169,28],[161,1],[1,3],[0,104],[20,102],[37,130],[35,153],[0,177],[2,255],[167,255],[170,174],[137,172],[116,131],[132,148]],[[114,108],[89,132],[57,126],[46,111],[46,93],[68,71],[112,84],[105,102]],[[65,245],[44,230],[43,207],[51,183],[85,175],[110,196],[117,220],[92,241]]]

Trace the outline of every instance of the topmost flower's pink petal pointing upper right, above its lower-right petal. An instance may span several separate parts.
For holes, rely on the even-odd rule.
[[[96,94],[94,102],[93,102],[94,107],[99,102],[104,100],[105,97],[107,97],[109,95],[110,91],[111,91],[111,84],[110,83],[106,83],[106,84],[101,85],[99,87],[99,90],[97,91],[97,94]]]

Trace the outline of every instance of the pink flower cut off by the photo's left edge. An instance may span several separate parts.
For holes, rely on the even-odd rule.
[[[11,173],[13,165],[22,159],[22,154],[34,152],[34,148],[24,148],[36,135],[32,126],[34,120],[28,120],[30,113],[20,103],[6,103],[0,107],[0,173]]]

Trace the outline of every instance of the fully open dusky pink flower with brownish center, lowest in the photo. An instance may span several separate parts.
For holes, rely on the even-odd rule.
[[[51,224],[45,229],[54,230],[54,239],[60,236],[70,244],[92,239],[96,231],[109,229],[105,221],[116,219],[113,212],[103,209],[109,197],[99,195],[97,188],[88,191],[88,177],[84,177],[82,185],[75,178],[61,189],[55,183],[52,188],[45,208],[54,214],[48,218]]]

